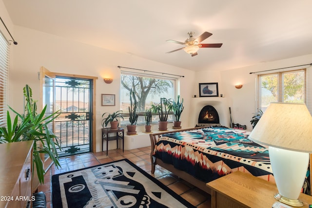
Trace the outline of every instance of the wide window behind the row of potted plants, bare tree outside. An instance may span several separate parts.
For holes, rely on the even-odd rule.
[[[130,124],[129,111],[130,91],[134,90],[137,97],[137,125],[145,124],[144,112],[150,109],[152,104],[159,103],[160,97],[171,98],[176,95],[176,79],[160,76],[140,75],[129,72],[121,72],[120,81],[120,110],[123,112],[124,121],[121,120],[121,126]],[[168,121],[173,121],[174,116],[171,113]],[[158,114],[153,114],[152,121],[156,123],[159,120]]]

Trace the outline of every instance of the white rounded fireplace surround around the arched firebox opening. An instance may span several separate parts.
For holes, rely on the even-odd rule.
[[[222,126],[230,127],[230,109],[226,97],[193,97],[191,99],[191,126],[195,126],[198,123],[198,115],[206,105],[211,105],[215,108],[219,114],[219,120]]]

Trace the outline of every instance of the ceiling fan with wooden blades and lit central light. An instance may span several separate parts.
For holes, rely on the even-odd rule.
[[[197,51],[199,48],[220,48],[222,43],[200,43],[212,36],[212,33],[204,32],[198,38],[194,38],[195,32],[188,32],[189,38],[187,38],[184,42],[179,42],[176,40],[167,40],[168,42],[173,42],[181,45],[185,45],[183,48],[179,48],[173,51],[169,51],[166,54],[170,54],[176,51],[183,49],[186,53],[191,54],[192,57],[197,55]]]

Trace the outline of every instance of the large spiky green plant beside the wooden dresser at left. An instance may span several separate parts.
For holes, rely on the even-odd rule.
[[[32,99],[31,88],[26,85],[23,92],[26,101],[24,113],[20,114],[9,107],[16,116],[12,123],[10,113],[7,111],[6,127],[0,127],[0,143],[33,140],[33,167],[37,170],[39,182],[43,184],[45,171],[40,153],[48,155],[56,168],[60,167],[56,148],[61,149],[61,147],[55,139],[56,135],[48,128],[48,124],[59,116],[59,112],[46,116],[47,106],[44,106],[42,111],[37,113],[37,103]]]

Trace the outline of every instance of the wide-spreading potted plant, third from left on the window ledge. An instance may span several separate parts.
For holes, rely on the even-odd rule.
[[[160,98],[160,103],[152,104],[153,113],[158,113],[159,121],[158,121],[158,129],[159,131],[166,131],[168,125],[168,115],[172,110],[172,101],[171,99],[167,99],[165,97]]]

